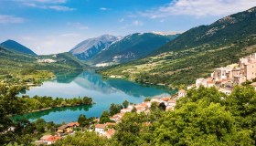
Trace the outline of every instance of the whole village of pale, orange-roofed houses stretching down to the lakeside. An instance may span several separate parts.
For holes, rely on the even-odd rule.
[[[205,88],[216,87],[220,92],[229,95],[232,89],[236,85],[242,85],[246,81],[254,81],[256,78],[256,53],[251,54],[249,57],[240,58],[238,64],[232,64],[225,68],[215,68],[209,78],[197,78],[196,84],[188,86],[187,89],[196,88],[200,86]],[[251,83],[256,89],[256,82]],[[113,115],[110,120],[113,122],[99,123],[100,119],[95,119],[95,124],[91,126],[90,131],[96,132],[102,137],[111,139],[115,133],[114,126],[122,121],[122,118],[126,112],[132,112],[135,110],[137,113],[149,113],[152,103],[156,102],[159,105],[164,104],[165,110],[174,110],[176,106],[176,100],[187,95],[185,89],[178,90],[178,93],[174,96],[153,98],[148,101],[144,101],[140,104],[129,105],[127,108],[122,109],[119,113]],[[147,123],[150,124],[150,123]],[[79,122],[70,122],[68,124],[61,125],[56,131],[56,135],[45,135],[40,140],[35,141],[37,145],[40,144],[52,144],[59,139],[65,138],[69,134],[74,134],[75,129],[80,127]]]

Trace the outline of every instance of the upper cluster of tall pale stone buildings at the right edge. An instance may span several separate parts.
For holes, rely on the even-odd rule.
[[[237,64],[231,64],[225,68],[215,68],[209,78],[197,78],[196,84],[188,86],[187,89],[193,87],[205,88],[216,87],[220,92],[229,95],[236,85],[242,85],[246,81],[255,81],[256,78],[256,53],[248,57],[240,58]],[[256,88],[255,83],[251,86]]]

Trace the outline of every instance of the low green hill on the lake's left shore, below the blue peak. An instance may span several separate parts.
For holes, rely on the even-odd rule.
[[[40,59],[54,59],[56,62],[39,63]],[[84,65],[70,53],[36,57],[0,47],[0,68],[0,82],[25,85],[38,84],[56,73],[82,70]]]

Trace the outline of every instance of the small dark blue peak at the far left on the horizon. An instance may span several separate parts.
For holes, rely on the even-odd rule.
[[[37,56],[37,54],[34,53],[31,49],[17,43],[14,40],[10,40],[10,39],[1,43],[0,47],[5,47],[5,48],[8,48],[8,49],[12,49],[12,50],[15,50],[17,52],[24,53],[24,54],[27,54],[27,55]]]

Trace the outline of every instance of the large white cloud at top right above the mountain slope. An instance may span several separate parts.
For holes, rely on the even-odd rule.
[[[227,16],[247,10],[256,0],[176,0],[168,5],[140,13],[140,16],[163,18],[167,16]]]

